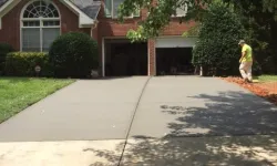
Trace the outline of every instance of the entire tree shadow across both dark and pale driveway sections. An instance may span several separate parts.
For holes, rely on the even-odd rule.
[[[121,165],[277,164],[277,108],[273,104],[240,92],[191,97],[205,100],[205,106],[161,105],[162,113],[176,116],[174,122],[167,124],[172,132],[162,138],[146,135],[130,138]],[[117,153],[89,148],[86,151],[105,158],[111,165],[116,165],[123,145],[117,145]],[[104,164],[91,164],[101,165]]]

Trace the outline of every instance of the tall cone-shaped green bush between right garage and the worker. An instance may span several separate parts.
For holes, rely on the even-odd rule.
[[[199,29],[199,37],[193,51],[193,63],[213,69],[213,74],[236,75],[245,30],[239,17],[222,2],[211,4]]]

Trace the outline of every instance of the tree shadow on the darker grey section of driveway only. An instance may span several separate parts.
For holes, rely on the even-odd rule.
[[[277,134],[277,107],[242,92],[192,96],[205,100],[205,107],[162,105],[163,113],[179,114],[168,123],[167,136],[238,136]]]

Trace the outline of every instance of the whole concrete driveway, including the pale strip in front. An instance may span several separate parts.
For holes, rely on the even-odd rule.
[[[277,165],[276,120],[219,79],[78,81],[0,125],[0,165]]]

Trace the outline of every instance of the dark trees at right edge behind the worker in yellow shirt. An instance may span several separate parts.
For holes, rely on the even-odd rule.
[[[224,0],[235,6],[264,73],[277,73],[277,1]]]

